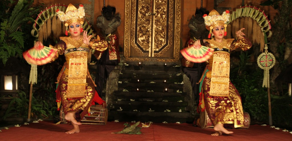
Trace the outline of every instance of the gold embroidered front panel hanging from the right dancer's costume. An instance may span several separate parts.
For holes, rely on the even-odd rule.
[[[211,74],[211,96],[227,97],[229,94],[230,54],[223,51],[213,53]]]

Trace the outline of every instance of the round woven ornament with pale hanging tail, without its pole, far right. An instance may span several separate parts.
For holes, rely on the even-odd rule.
[[[267,51],[268,47],[265,44],[265,52],[258,56],[258,66],[261,69],[264,69],[264,80],[263,80],[263,87],[270,87],[270,69],[275,65],[276,60],[275,56]]]

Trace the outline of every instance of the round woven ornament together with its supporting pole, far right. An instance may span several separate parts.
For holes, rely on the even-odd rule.
[[[272,108],[271,108],[271,95],[270,95],[270,73],[269,70],[275,65],[275,56],[268,52],[268,46],[265,44],[265,52],[258,56],[258,66],[264,69],[263,87],[268,88],[268,103],[269,103],[269,125],[272,126]]]

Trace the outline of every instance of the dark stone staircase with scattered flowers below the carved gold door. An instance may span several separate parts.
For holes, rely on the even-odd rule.
[[[181,67],[138,63],[119,67],[117,88],[108,106],[109,121],[192,122]]]

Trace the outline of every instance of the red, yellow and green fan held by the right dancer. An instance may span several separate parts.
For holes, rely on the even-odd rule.
[[[213,52],[214,49],[205,46],[201,46],[199,49],[190,46],[180,50],[180,53],[185,59],[194,63],[201,63],[208,60]]]

